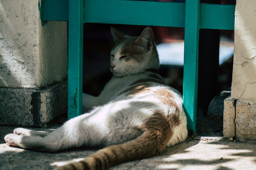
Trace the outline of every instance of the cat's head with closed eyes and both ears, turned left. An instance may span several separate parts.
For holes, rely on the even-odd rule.
[[[114,76],[122,77],[159,68],[154,33],[150,27],[146,27],[138,37],[127,36],[113,27],[111,33],[115,46],[111,50],[110,69]]]

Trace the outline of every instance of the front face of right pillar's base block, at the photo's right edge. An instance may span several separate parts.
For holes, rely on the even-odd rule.
[[[256,102],[236,102],[236,139],[256,141]]]

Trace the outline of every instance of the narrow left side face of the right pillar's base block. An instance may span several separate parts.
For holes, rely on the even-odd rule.
[[[224,100],[223,111],[223,137],[234,138],[236,136],[235,127],[236,100],[228,97]]]

